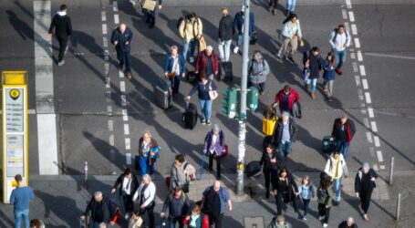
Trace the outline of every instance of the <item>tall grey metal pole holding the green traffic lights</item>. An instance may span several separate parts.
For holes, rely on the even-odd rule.
[[[244,157],[246,137],[246,93],[248,84],[248,49],[249,49],[249,5],[250,0],[244,0],[244,48],[242,52],[242,76],[241,76],[241,109],[239,111],[239,139],[238,139],[238,163],[236,175],[236,194],[244,194]]]

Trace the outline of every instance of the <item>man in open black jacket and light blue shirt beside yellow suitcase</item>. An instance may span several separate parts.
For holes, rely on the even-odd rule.
[[[296,141],[298,128],[296,121],[290,118],[290,114],[284,111],[281,119],[275,123],[274,143],[278,148],[281,158],[286,160],[286,156],[293,150],[293,143]]]

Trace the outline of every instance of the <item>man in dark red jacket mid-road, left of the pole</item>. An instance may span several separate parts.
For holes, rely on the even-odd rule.
[[[199,74],[202,71],[206,72],[210,80],[213,80],[213,76],[217,76],[219,73],[219,58],[214,53],[212,46],[206,47],[196,57],[194,73]]]

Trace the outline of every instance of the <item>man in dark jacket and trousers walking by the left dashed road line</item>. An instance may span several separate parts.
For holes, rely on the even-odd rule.
[[[124,68],[124,74],[131,79],[131,43],[132,32],[125,24],[119,24],[117,28],[112,31],[111,44],[115,46],[117,51],[117,59],[119,60],[119,70]]]

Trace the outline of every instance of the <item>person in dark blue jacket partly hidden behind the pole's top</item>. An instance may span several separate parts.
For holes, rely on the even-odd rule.
[[[244,12],[245,5],[243,5],[241,11],[236,13],[236,15],[233,17],[233,32],[236,36],[236,46],[233,48],[234,54],[237,54],[239,51],[239,47],[241,47],[244,44]],[[249,11],[249,36],[254,36],[254,32],[254,13],[252,11]]]

